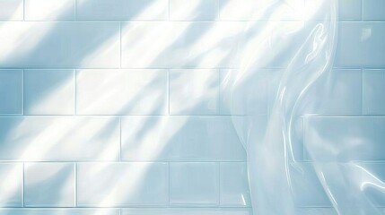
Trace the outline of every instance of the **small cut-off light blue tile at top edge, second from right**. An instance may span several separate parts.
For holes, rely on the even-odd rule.
[[[361,20],[362,0],[339,0],[340,20]],[[364,1],[364,0],[363,0]]]

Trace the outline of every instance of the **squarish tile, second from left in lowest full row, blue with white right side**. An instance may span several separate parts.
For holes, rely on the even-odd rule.
[[[24,164],[24,205],[74,207],[74,163]]]

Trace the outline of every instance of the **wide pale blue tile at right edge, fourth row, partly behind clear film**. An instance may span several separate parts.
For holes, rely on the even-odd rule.
[[[385,117],[309,116],[304,118],[305,159],[349,161],[385,159]],[[311,152],[309,152],[309,150]]]

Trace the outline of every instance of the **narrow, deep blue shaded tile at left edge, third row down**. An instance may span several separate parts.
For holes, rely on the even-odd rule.
[[[0,70],[0,114],[22,114],[22,70]]]

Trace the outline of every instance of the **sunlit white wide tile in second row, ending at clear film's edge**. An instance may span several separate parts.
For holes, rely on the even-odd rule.
[[[124,68],[213,68],[232,64],[241,22],[127,22]],[[151,43],[151,48],[143,48]]]

